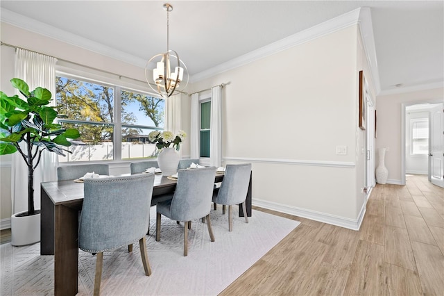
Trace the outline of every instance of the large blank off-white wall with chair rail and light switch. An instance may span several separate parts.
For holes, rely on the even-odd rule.
[[[197,91],[230,81],[222,96],[222,155],[225,163],[253,163],[255,204],[357,220],[365,159],[358,63],[366,63],[357,39],[350,26],[194,83]],[[337,145],[348,154],[336,155]]]

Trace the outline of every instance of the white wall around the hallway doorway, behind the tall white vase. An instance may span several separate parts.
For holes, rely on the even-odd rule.
[[[388,170],[387,183],[402,183],[402,104],[442,103],[444,88],[419,90],[400,94],[378,96],[376,148],[388,147],[385,163]]]

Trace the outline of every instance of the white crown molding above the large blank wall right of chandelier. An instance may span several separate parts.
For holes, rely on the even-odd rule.
[[[278,53],[279,51],[295,47],[298,44],[309,42],[310,40],[314,40],[324,35],[334,33],[335,31],[339,31],[343,28],[358,24],[360,10],[361,8],[357,8],[350,11],[349,13],[339,15],[339,17],[334,17],[333,19],[330,19],[326,22],[317,24],[316,26],[312,26],[311,28],[307,28],[304,31],[300,31],[299,33],[290,35],[287,38],[278,40],[254,51],[250,51],[248,54],[244,54],[243,56],[239,56],[238,58],[229,60],[228,62],[217,65],[216,67],[212,67],[198,74],[194,74],[190,77],[189,80],[191,83],[195,83],[197,81],[207,79],[211,76],[220,74],[230,69],[246,65],[260,58],[271,56]]]

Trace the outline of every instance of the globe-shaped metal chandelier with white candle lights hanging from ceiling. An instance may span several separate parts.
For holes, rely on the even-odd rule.
[[[173,10],[173,6],[169,3],[164,3],[163,7],[164,10],[167,10],[167,51],[163,54],[156,54],[148,60],[145,67],[145,79],[152,90],[162,97],[167,98],[187,87],[188,69],[185,63],[180,60],[178,53],[169,49],[169,13]],[[153,69],[153,80],[148,79],[148,77],[151,77],[151,75],[148,74],[148,67],[152,65],[152,63],[156,65]],[[171,67],[174,68],[174,72],[171,72]],[[185,81],[183,79],[184,76]],[[180,85],[184,84],[185,86],[180,88]],[[155,85],[155,88],[153,88],[153,85]]]

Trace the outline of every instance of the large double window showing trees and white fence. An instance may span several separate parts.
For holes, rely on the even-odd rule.
[[[59,118],[75,127],[86,145],[71,146],[60,162],[112,161],[155,157],[148,133],[163,130],[164,100],[118,85],[56,77]]]

